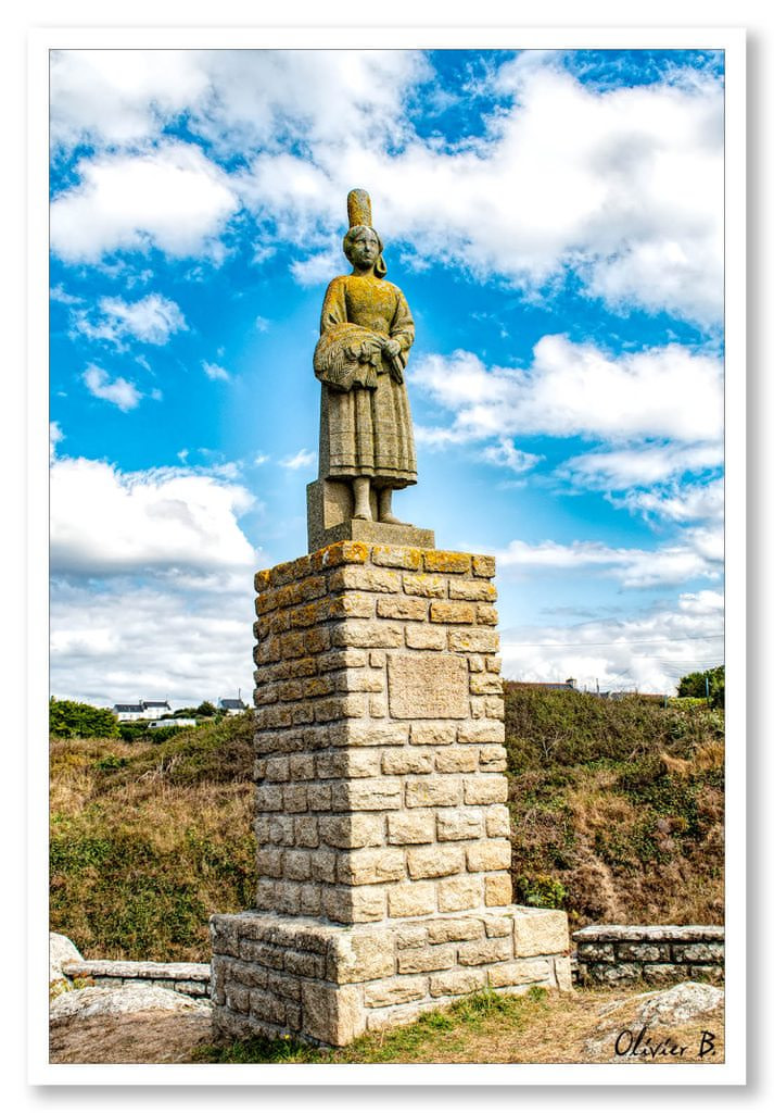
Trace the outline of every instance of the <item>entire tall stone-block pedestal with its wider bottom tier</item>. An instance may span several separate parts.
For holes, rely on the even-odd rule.
[[[510,904],[494,571],[345,541],[258,573],[259,880],[211,919],[218,1038],[570,988],[565,914]]]

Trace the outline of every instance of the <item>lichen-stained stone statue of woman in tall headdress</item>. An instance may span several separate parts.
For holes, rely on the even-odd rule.
[[[398,523],[393,491],[417,481],[417,461],[404,371],[414,343],[406,298],[385,282],[383,244],[371,227],[361,189],[347,197],[349,232],[344,254],[353,272],[328,286],[315,348],[322,383],[320,479],[348,481],[354,518]]]

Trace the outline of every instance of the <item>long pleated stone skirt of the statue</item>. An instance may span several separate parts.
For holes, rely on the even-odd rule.
[[[336,391],[322,383],[320,477],[365,475],[375,486],[404,487],[417,481],[411,411],[405,383],[386,372],[376,390]]]

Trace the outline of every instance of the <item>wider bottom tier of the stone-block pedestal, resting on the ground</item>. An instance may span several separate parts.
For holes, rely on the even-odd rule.
[[[479,989],[572,988],[567,917],[552,909],[351,926],[246,912],[212,916],[210,934],[216,1038],[344,1046]]]

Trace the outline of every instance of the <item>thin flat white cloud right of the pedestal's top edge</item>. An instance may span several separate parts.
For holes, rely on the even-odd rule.
[[[497,553],[502,569],[578,571],[597,569],[625,588],[679,584],[697,578],[717,580],[723,572],[723,534],[712,528],[686,531],[678,542],[657,549],[613,548],[598,541],[529,544],[512,541]]]

